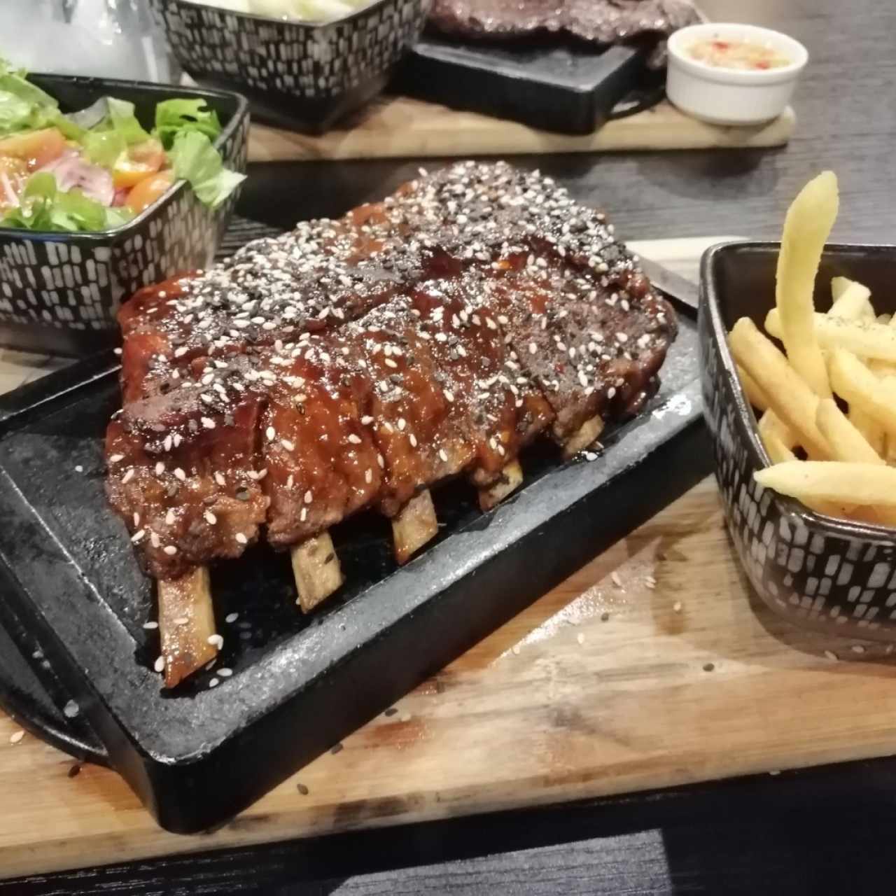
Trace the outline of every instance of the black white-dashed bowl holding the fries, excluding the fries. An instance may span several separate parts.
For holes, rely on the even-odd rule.
[[[737,378],[727,333],[740,317],[763,329],[774,305],[779,243],[713,246],[702,259],[700,347],[703,407],[728,530],[762,600],[791,622],[868,642],[896,642],[896,530],[835,520],[754,481],[771,464]],[[828,246],[815,307],[831,305],[831,277],[871,289],[881,313],[896,310],[896,246]],[[879,300],[879,301],[878,301]],[[890,305],[886,305],[887,301]],[[877,307],[875,304],[875,307]]]

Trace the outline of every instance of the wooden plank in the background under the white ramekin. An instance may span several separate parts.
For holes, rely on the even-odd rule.
[[[594,134],[575,136],[539,131],[501,118],[458,112],[408,97],[384,97],[348,125],[323,136],[308,136],[252,125],[249,160],[390,159],[400,157],[514,155],[547,152],[694,150],[780,146],[796,125],[792,108],[767,125],[708,125],[679,112],[668,101]]]

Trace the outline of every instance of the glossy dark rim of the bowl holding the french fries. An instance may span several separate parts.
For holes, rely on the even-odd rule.
[[[715,341],[719,348],[719,357],[721,358],[725,377],[728,380],[729,393],[734,396],[737,423],[741,427],[743,441],[750,452],[750,460],[753,461],[757,469],[762,469],[763,467],[771,467],[771,458],[765,451],[764,445],[762,445],[759,430],[756,427],[753,408],[740,384],[740,377],[737,375],[734,358],[731,357],[731,351],[728,349],[728,330],[719,306],[719,290],[714,275],[716,255],[729,246],[749,246],[759,252],[774,251],[777,254],[780,251],[780,242],[731,240],[726,243],[719,243],[716,246],[711,246],[703,254],[700,271],[702,301],[705,303],[706,310],[710,315],[712,340]],[[830,254],[867,254],[869,251],[874,252],[875,250],[896,254],[896,246],[880,244],[836,243],[825,246],[825,253]],[[825,533],[839,538],[861,538],[866,541],[886,542],[888,544],[896,542],[896,529],[887,526],[875,526],[871,523],[837,520],[830,516],[824,516],[822,513],[815,513],[809,510],[805,504],[801,504],[794,498],[788,497],[788,495],[780,495],[778,492],[773,491],[771,494],[783,512],[797,514],[812,530],[823,530]]]

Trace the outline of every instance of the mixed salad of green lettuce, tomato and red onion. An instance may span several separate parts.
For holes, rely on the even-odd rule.
[[[56,99],[0,59],[0,227],[121,227],[176,180],[217,208],[245,177],[225,168],[212,145],[220,131],[204,99],[158,103],[151,132],[134,103],[115,97],[64,115]]]

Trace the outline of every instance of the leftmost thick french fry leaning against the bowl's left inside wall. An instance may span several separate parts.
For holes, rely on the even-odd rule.
[[[787,358],[747,317],[734,325],[728,344],[737,363],[759,383],[771,410],[794,431],[809,456],[826,459],[828,446],[815,425],[818,396],[800,379]]]

